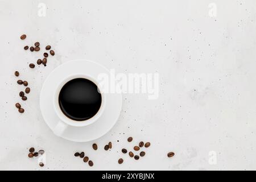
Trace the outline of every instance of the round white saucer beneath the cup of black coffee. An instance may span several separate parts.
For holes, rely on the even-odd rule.
[[[91,77],[97,78],[99,73],[107,73],[106,69],[101,64],[89,60],[73,60],[61,64],[55,68],[44,81],[40,93],[40,109],[47,125],[51,130],[57,125],[60,120],[53,108],[53,94],[55,93],[56,83],[63,80],[67,75],[73,73],[86,73]],[[119,93],[105,94],[105,110],[101,117],[94,123],[84,127],[68,126],[68,129],[61,135],[62,138],[73,142],[88,142],[102,137],[117,122],[122,108],[122,95]]]

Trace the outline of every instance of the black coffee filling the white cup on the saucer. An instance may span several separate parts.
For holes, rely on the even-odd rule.
[[[68,81],[59,94],[61,111],[75,121],[84,121],[96,115],[101,101],[97,85],[85,78]]]

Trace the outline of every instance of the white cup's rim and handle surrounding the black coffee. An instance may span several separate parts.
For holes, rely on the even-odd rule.
[[[105,109],[105,96],[104,96],[104,93],[100,92],[101,93],[101,106],[100,106],[100,109],[98,110],[98,112],[92,118],[86,119],[84,121],[76,121],[76,120],[73,120],[73,119],[67,117],[67,115],[65,115],[63,113],[63,111],[60,109],[60,105],[59,105],[60,90],[61,90],[61,88],[63,88],[63,86],[68,81],[71,81],[75,78],[85,78],[87,80],[90,80],[94,84],[97,85],[98,92],[100,92],[100,90],[101,90],[100,84],[98,84],[98,81],[96,80],[96,78],[92,78],[92,77],[82,74],[82,73],[78,73],[75,75],[69,75],[66,78],[64,78],[64,80],[61,81],[59,84],[57,84],[56,89],[55,89],[55,94],[53,94],[53,107],[55,109],[57,116],[59,117],[59,122],[57,122],[57,125],[53,129],[53,132],[59,137],[64,133],[64,131],[68,127],[88,126],[88,125],[91,125],[92,123],[96,122],[97,119],[101,117],[101,115]]]

